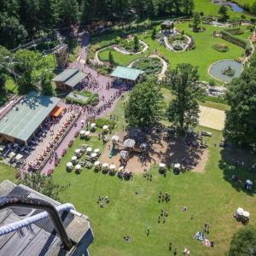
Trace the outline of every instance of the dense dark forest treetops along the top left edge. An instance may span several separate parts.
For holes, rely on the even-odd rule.
[[[192,15],[193,0],[0,0],[0,44],[13,49],[40,32],[91,20]]]

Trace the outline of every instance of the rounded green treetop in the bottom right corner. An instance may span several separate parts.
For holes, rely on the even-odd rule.
[[[247,226],[238,230],[230,242],[229,256],[253,256],[256,254],[256,228]]]

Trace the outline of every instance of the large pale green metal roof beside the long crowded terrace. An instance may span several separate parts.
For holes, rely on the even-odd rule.
[[[0,134],[26,142],[59,101],[31,91],[0,119]]]

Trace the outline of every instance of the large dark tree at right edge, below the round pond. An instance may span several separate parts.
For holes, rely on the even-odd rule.
[[[233,79],[226,93],[224,137],[231,143],[256,145],[256,67],[247,67],[240,79]]]

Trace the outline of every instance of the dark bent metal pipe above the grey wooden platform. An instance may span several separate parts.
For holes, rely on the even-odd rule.
[[[55,225],[55,230],[58,232],[65,249],[69,251],[73,247],[72,241],[67,236],[67,232],[64,228],[64,225],[62,224],[58,211],[48,201],[21,196],[1,197],[0,210],[7,207],[27,207],[45,210],[46,212],[49,213],[49,217],[52,219]]]

